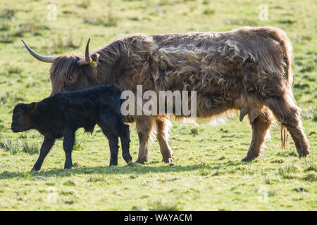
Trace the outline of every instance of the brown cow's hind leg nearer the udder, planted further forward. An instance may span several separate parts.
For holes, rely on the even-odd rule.
[[[258,117],[251,122],[252,141],[247,156],[242,159],[243,162],[258,158],[263,149],[266,133],[272,124],[272,114],[267,108],[263,108]]]

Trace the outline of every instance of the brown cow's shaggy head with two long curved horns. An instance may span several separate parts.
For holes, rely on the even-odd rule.
[[[89,55],[89,41],[90,39],[87,41],[85,56],[75,53],[64,56],[41,56],[27,46],[25,41],[23,44],[37,60],[52,63],[49,73],[51,95],[53,95],[61,91],[80,90],[99,84],[97,79],[99,54]]]

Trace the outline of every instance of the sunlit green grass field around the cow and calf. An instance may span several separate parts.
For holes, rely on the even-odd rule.
[[[316,1],[52,1],[0,0],[0,210],[317,210],[317,6]],[[259,20],[261,4],[268,20]],[[260,8],[259,8],[260,6]],[[48,8],[49,7],[49,8]],[[53,11],[52,11],[53,10]],[[280,148],[275,124],[261,157],[241,162],[251,141],[247,120],[173,122],[171,167],[159,144],[149,144],[145,165],[108,167],[108,142],[99,127],[77,131],[73,169],[64,170],[57,141],[41,171],[30,172],[42,136],[13,134],[13,107],[49,96],[49,63],[40,63],[21,38],[43,55],[84,51],[118,34],[227,31],[244,25],[280,27],[294,44],[294,95],[311,145],[297,158],[294,142]],[[238,115],[238,113],[237,113]],[[131,129],[130,153],[138,139]]]

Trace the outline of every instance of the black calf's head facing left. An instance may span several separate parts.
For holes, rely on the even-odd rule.
[[[27,131],[32,128],[31,113],[37,107],[37,103],[18,103],[13,109],[11,130],[13,132]]]

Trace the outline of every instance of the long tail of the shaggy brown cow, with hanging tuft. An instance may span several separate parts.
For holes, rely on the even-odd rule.
[[[287,87],[290,90],[290,93],[292,94],[292,86],[294,84],[294,74],[292,72],[292,59],[293,59],[293,47],[292,42],[287,37],[287,34],[275,27],[271,27],[270,37],[274,39],[275,41],[278,41],[280,43],[280,46],[282,47],[283,51],[283,67],[284,67],[284,76],[287,80]],[[280,124],[280,136],[281,136],[281,143],[282,143],[282,149],[285,149],[287,146],[288,141],[288,131],[285,127],[285,125]]]

